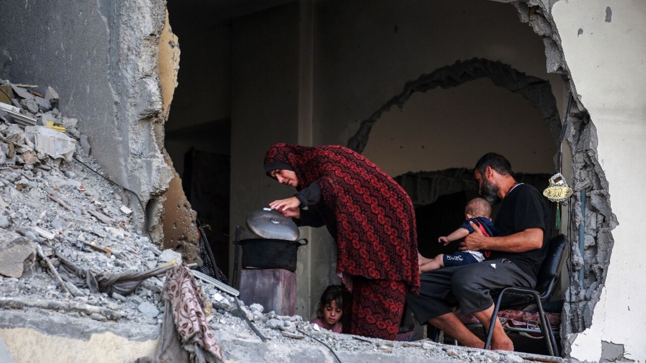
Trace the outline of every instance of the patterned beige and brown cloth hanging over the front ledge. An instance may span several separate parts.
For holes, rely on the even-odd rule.
[[[222,351],[207,324],[202,289],[185,265],[166,274],[166,307],[161,337],[154,357],[139,358],[137,363],[223,362]]]

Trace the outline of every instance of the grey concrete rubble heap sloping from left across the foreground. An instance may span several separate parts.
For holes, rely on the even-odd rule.
[[[30,112],[27,116],[53,118],[65,125],[72,140],[82,137],[76,129],[78,120],[52,109],[57,103],[54,88],[47,88],[43,98],[47,103],[24,88],[14,87],[14,91],[24,96],[16,103],[24,106],[23,112]],[[71,154],[68,158],[56,154],[55,158],[34,142],[35,134],[33,128],[23,129],[0,120],[0,328],[23,324],[35,327],[49,320],[63,326],[47,332],[54,335],[81,336],[92,329],[103,329],[116,335],[154,338],[154,332],[161,330],[165,311],[165,276],[147,278],[132,294],[124,296],[92,293],[87,287],[63,281],[56,270],[64,258],[78,269],[93,273],[141,272],[181,262],[182,255],[160,251],[149,236],[136,229],[132,210],[140,205],[130,205],[127,192],[99,176],[105,173],[92,156],[83,152],[81,143],[73,143],[73,158]],[[335,334],[300,316],[265,312],[258,304],[242,304],[240,311],[233,296],[202,280],[197,282],[213,306],[207,316],[209,326],[225,359],[231,362],[335,362],[334,355],[342,362],[490,363],[536,358],[429,340],[391,342]],[[267,342],[247,326],[243,314]]]

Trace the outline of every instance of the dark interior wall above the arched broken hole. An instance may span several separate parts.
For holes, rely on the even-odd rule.
[[[317,3],[315,143],[346,145],[406,82],[457,60],[501,60],[547,79],[543,42],[514,8],[490,1],[324,1]],[[476,31],[477,30],[477,31]],[[351,36],[348,36],[351,34]],[[474,161],[475,162],[475,161]]]

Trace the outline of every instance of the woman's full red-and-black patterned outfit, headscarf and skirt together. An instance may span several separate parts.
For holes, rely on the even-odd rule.
[[[394,339],[406,293],[419,291],[415,210],[408,194],[377,165],[342,146],[279,143],[265,166],[289,165],[300,191],[320,187],[318,210],[337,241],[337,273],[351,291],[349,332]],[[282,169],[276,167],[275,169]],[[344,302],[346,315],[346,302]]]

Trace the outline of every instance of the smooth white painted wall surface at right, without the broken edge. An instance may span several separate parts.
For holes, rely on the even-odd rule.
[[[572,357],[598,361],[605,341],[623,344],[626,358],[645,362],[646,2],[558,1],[552,16],[577,92],[596,125],[598,159],[620,223],[612,231],[614,248],[592,327],[574,339]]]

